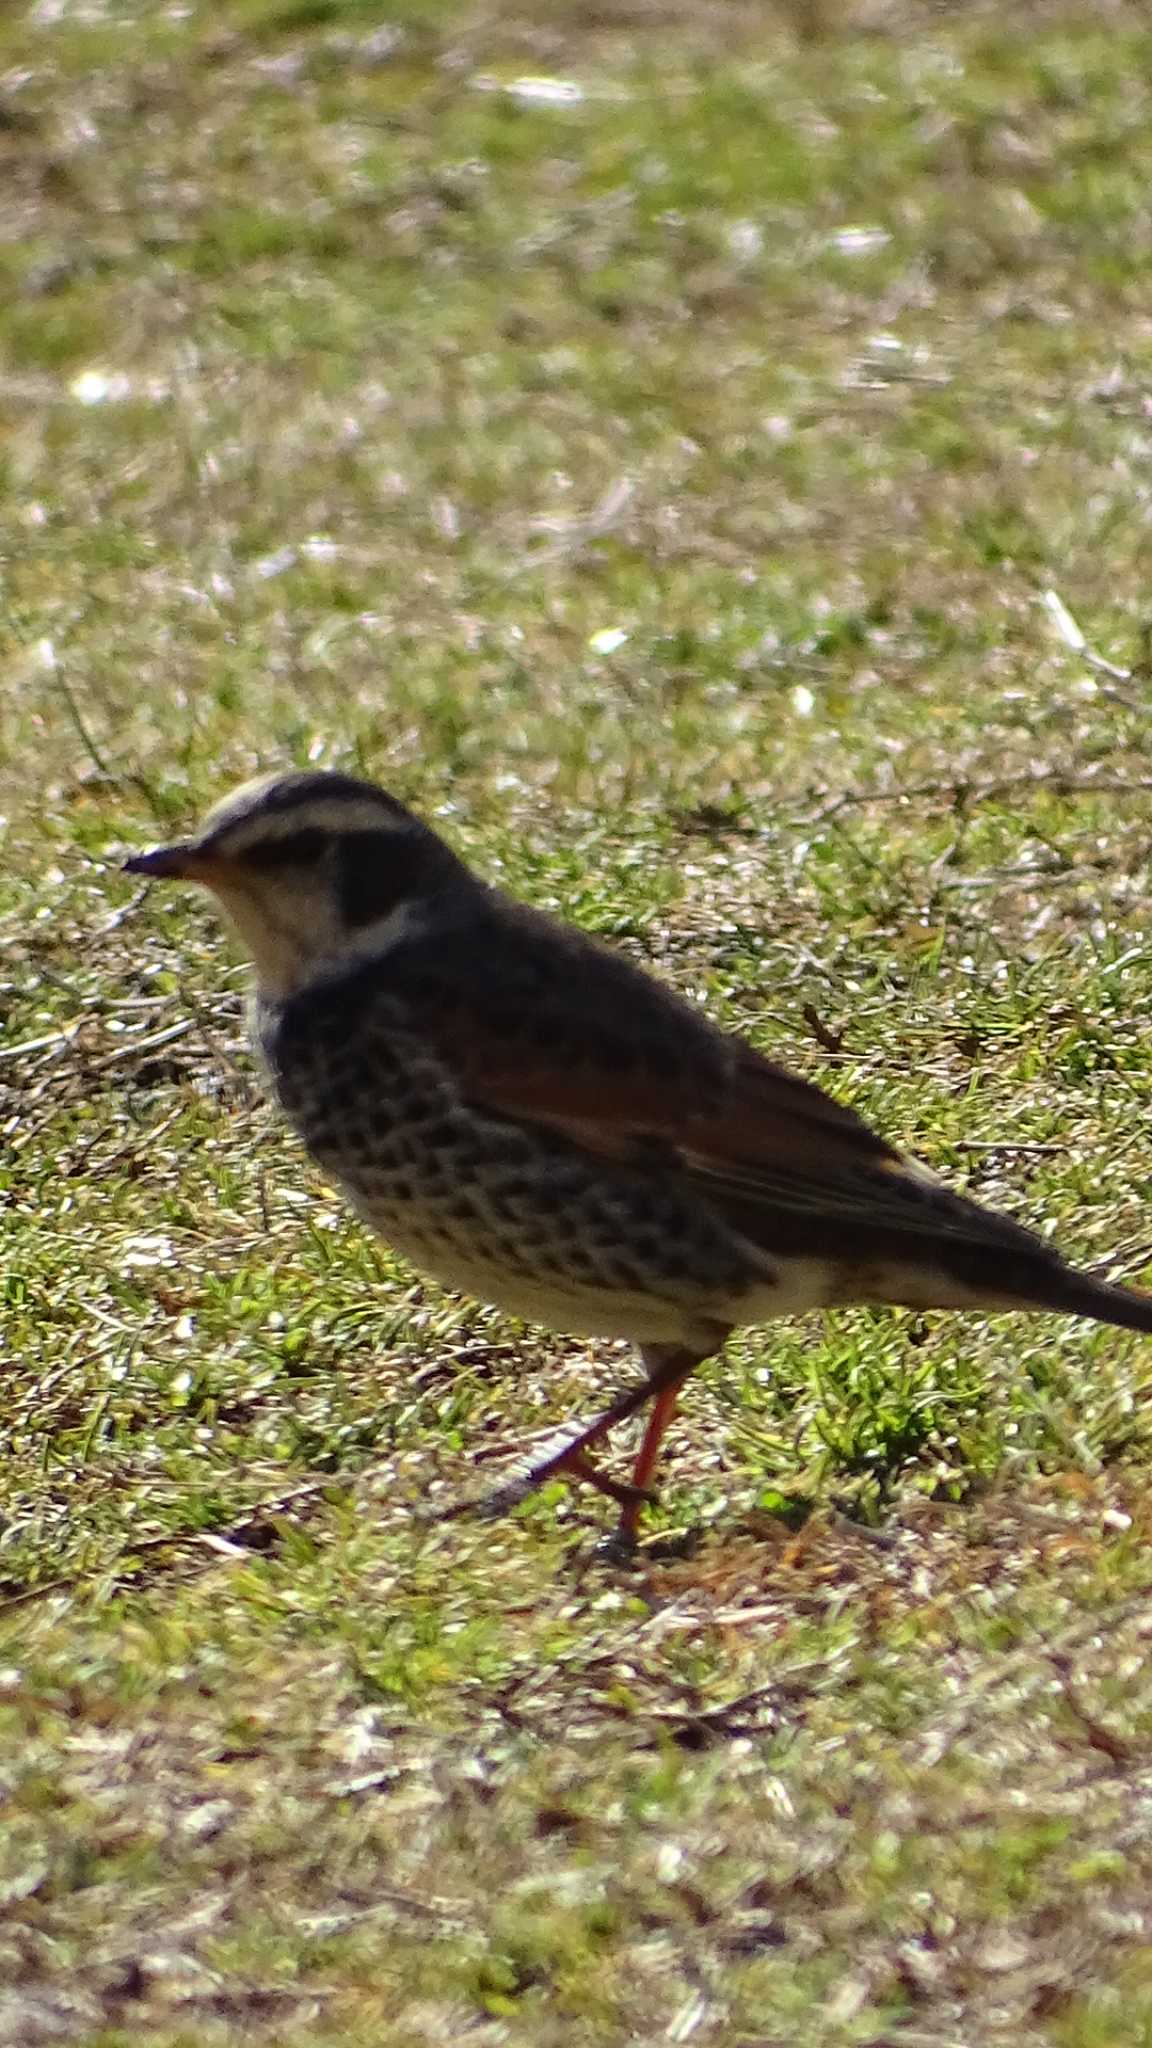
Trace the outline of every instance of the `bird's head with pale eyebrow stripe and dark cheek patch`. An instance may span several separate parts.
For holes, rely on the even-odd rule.
[[[125,868],[211,889],[269,997],[371,956],[430,897],[469,879],[396,797],[330,770],[246,782],[191,840],[135,854]]]

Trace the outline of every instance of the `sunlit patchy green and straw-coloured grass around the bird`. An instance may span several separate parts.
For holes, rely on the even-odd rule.
[[[627,1358],[367,1243],[119,872],[367,770],[1138,1278],[1144,12],[0,39],[0,2044],[1152,2044],[1140,1343],[746,1331],[635,1571],[430,1526]]]

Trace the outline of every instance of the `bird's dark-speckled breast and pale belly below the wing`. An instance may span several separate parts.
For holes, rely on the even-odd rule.
[[[640,1341],[681,1335],[763,1278],[676,1184],[586,1159],[461,1098],[379,989],[264,1006],[258,1047],[312,1155],[365,1221],[437,1278],[517,1315]]]

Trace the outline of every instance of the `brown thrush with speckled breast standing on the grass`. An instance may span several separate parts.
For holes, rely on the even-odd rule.
[[[217,899],[271,1094],[371,1231],[529,1323],[637,1346],[642,1378],[537,1446],[492,1513],[588,1481],[627,1552],[676,1397],[740,1325],[869,1303],[1152,1331],[1150,1292],[953,1192],[375,782],[260,776],[125,866]],[[592,1450],[646,1407],[615,1479]]]

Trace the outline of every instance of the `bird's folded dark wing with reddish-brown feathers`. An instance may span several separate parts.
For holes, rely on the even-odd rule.
[[[412,948],[392,991],[478,1108],[678,1178],[769,1251],[924,1260],[935,1241],[953,1266],[992,1249],[1052,1260],[908,1165],[855,1110],[521,905],[500,905],[467,950]]]

